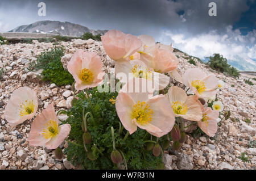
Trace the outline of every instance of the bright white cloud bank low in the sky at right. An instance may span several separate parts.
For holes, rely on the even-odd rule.
[[[240,30],[226,27],[226,32],[212,30],[196,36],[186,36],[185,33],[175,33],[170,30],[162,32],[160,41],[165,44],[171,39],[174,47],[199,58],[220,53],[239,69],[256,71],[256,30],[242,35]]]

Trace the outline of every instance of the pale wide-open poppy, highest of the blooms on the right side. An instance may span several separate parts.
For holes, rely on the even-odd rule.
[[[216,94],[216,88],[218,86],[218,79],[214,74],[207,75],[199,68],[188,69],[183,74],[183,83],[199,98],[209,99]]]

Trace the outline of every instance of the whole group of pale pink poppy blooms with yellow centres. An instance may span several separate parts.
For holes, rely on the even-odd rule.
[[[112,100],[123,127],[130,134],[139,127],[153,136],[162,137],[174,127],[175,117],[182,117],[196,121],[208,136],[214,136],[223,105],[215,102],[212,109],[201,101],[214,100],[217,87],[223,86],[223,82],[219,82],[214,74],[207,75],[196,68],[187,70],[181,77],[176,70],[179,61],[172,52],[172,45],[155,44],[151,36],[137,37],[110,30],[101,36],[101,40],[106,54],[115,61],[115,73],[133,75],[120,80],[123,87],[117,99]],[[67,66],[75,79],[75,89],[83,91],[101,85],[105,74],[102,66],[101,58],[96,53],[77,50]],[[158,77],[157,81],[152,77]],[[177,86],[170,87],[166,95],[154,95],[155,90],[163,90],[169,85],[170,77],[183,83],[194,95],[187,95]],[[156,86],[146,91],[135,91],[151,83]],[[7,103],[5,119],[14,127],[32,119],[37,110],[36,92],[28,87],[20,87]],[[59,126],[53,104],[49,104],[32,122],[28,143],[56,149],[70,130],[69,124]]]

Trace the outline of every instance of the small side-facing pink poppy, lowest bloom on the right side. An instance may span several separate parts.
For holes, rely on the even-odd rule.
[[[199,128],[210,137],[213,137],[217,132],[217,119],[219,114],[218,111],[208,107],[203,111],[203,119],[197,122]]]

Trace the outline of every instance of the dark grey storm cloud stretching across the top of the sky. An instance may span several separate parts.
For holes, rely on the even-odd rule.
[[[37,15],[39,2],[46,3],[45,17]],[[0,20],[10,28],[49,19],[79,23],[94,29],[116,28],[135,35],[155,35],[163,29],[183,29],[187,33],[196,34],[233,24],[239,20],[241,13],[249,8],[244,0],[215,0],[217,16],[210,17],[209,2],[212,0],[2,0]],[[184,12],[183,17],[181,18],[177,12]]]

